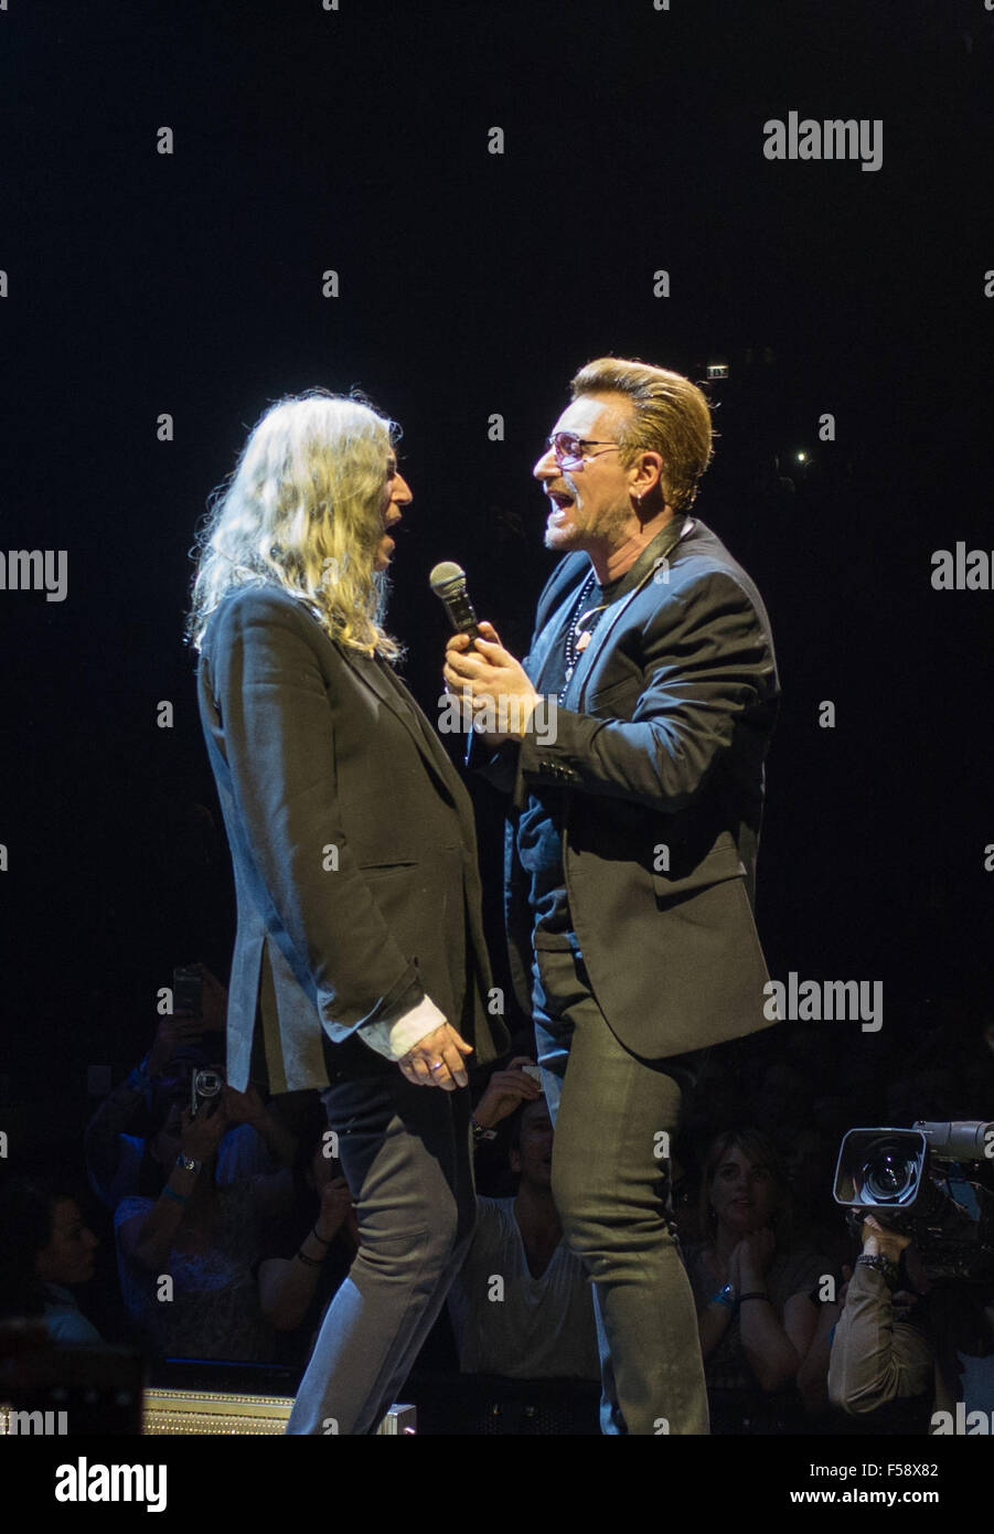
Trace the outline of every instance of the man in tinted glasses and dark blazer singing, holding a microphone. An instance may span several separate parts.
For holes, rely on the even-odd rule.
[[[531,652],[482,624],[445,666],[482,718],[522,724],[483,736],[485,770],[511,790],[511,963],[594,1279],[606,1433],[707,1433],[669,1155],[703,1051],[769,1026],[752,897],[779,689],[759,592],[690,515],[710,456],[687,379],[584,367],[534,468],[564,557]],[[558,704],[541,735],[540,696]]]

